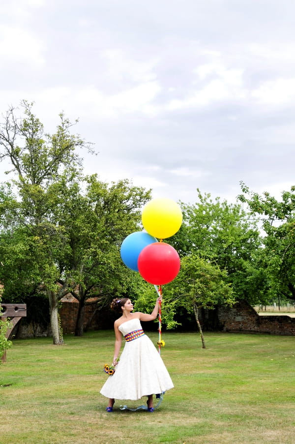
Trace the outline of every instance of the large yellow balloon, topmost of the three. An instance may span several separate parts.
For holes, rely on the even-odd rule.
[[[143,209],[142,223],[151,236],[166,239],[179,230],[182,212],[179,205],[171,199],[152,199]]]

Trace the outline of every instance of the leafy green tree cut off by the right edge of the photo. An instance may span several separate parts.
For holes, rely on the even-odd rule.
[[[295,186],[278,201],[268,192],[252,192],[241,182],[239,200],[262,217],[265,248],[262,261],[273,297],[295,301]]]

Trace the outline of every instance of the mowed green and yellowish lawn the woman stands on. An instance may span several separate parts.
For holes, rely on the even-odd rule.
[[[157,332],[148,333],[154,343]],[[295,338],[164,332],[175,388],[154,413],[105,411],[112,330],[14,340],[0,365],[1,444],[294,444]],[[128,375],[126,384],[128,385]],[[142,401],[121,402],[130,407]]]

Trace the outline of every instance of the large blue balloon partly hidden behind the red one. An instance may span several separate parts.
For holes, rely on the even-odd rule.
[[[127,236],[120,248],[121,259],[128,268],[138,271],[137,261],[140,252],[150,243],[157,242],[157,239],[150,236],[145,231],[136,231]]]

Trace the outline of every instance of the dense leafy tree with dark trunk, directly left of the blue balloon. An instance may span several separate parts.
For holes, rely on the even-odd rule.
[[[150,199],[150,191],[133,186],[127,179],[109,185],[93,175],[86,181],[85,193],[77,189],[77,184],[68,188],[67,199],[57,213],[57,222],[69,239],[62,268],[68,270],[75,284],[71,293],[79,300],[77,336],[83,333],[87,303],[101,308],[126,291],[129,271],[120,259],[120,245],[139,229],[139,208]]]

